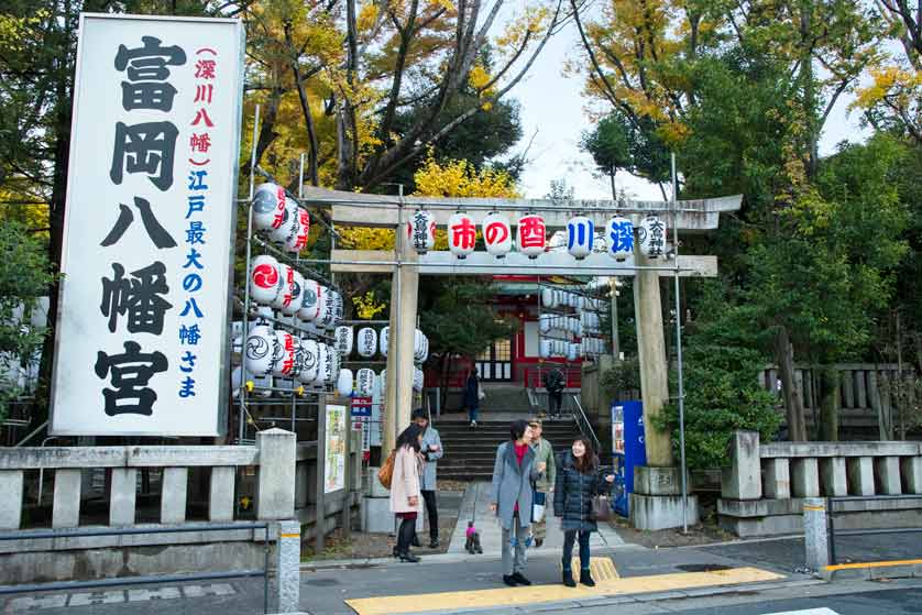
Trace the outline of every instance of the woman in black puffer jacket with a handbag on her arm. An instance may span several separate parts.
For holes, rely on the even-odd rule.
[[[553,486],[553,514],[561,519],[563,529],[563,584],[575,587],[571,562],[573,542],[580,540],[580,583],[595,585],[589,571],[589,538],[599,531],[592,515],[592,497],[607,491],[606,483],[613,474],[602,476],[599,458],[585,438],[573,440],[570,451],[561,453],[557,462],[557,481]]]

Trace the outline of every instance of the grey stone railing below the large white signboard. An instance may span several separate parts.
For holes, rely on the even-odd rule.
[[[259,569],[263,543],[275,540],[275,521],[295,520],[308,536],[316,535],[318,526],[326,532],[338,523],[348,525],[361,484],[355,479],[361,470],[355,436],[360,435],[348,444],[345,488],[329,494],[323,493],[322,470],[318,485],[317,443],[296,443],[295,435],[282,429],[259,432],[252,447],[0,448],[0,532],[17,534],[14,540],[0,541],[0,584]],[[190,470],[208,480],[195,481],[189,488]],[[50,524],[36,525],[30,518],[36,510],[34,497],[24,507],[25,486],[37,477],[36,471],[53,481],[53,488],[45,490],[51,492]],[[158,514],[153,506],[138,505],[142,472],[160,477]],[[196,508],[187,502],[189,493],[207,502],[207,513],[187,519],[187,509]],[[239,510],[241,495],[252,495],[249,510]],[[103,501],[92,502],[98,498]],[[99,514],[87,515],[90,506]],[[317,524],[318,509],[322,524]],[[46,515],[44,508],[41,512]],[[270,521],[268,536],[265,530],[233,527],[254,517]],[[133,532],[30,538],[35,531],[46,536],[47,525],[63,535],[106,528]],[[189,530],[134,531],[164,526]],[[202,526],[220,529],[197,530]]]

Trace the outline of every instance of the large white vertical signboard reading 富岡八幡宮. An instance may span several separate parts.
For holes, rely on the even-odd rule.
[[[81,15],[53,433],[223,428],[242,54],[237,20]]]

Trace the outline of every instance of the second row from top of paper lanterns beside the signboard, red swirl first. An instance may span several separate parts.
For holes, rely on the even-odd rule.
[[[297,270],[268,254],[253,259],[250,266],[250,297],[260,305],[311,322],[320,329],[333,329],[342,321],[342,295],[317,281],[305,278]]]

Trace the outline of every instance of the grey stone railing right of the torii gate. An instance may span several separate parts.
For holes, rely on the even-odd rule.
[[[922,526],[922,442],[771,442],[754,431],[731,440],[717,513],[737,536],[803,531],[803,498],[905,495],[844,503],[843,528]],[[919,497],[914,497],[919,496]],[[838,520],[838,519],[842,520]]]

